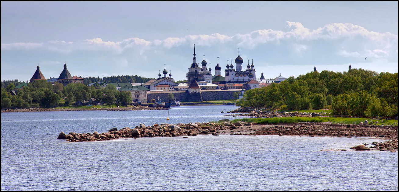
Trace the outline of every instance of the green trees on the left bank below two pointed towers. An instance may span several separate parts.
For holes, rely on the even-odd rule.
[[[46,80],[36,80],[28,83],[28,87],[16,91],[16,95],[11,95],[10,91],[14,90],[14,87],[14,84],[10,83],[5,89],[1,89],[2,108],[69,106],[76,101],[87,101],[91,98],[94,98],[96,103],[109,105],[128,105],[132,102],[130,92],[117,91],[114,85],[107,85],[104,88],[69,83],[63,86],[58,82],[53,85]]]

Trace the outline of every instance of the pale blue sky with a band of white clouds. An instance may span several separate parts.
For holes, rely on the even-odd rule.
[[[257,78],[397,73],[398,2],[1,2],[1,80],[28,81],[38,65],[57,78],[64,63],[72,76],[166,68],[185,80],[194,44],[222,76],[237,48]]]

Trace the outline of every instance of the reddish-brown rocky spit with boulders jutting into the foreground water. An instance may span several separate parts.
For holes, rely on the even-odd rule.
[[[380,150],[396,152],[398,149],[397,126],[367,126],[367,125],[341,125],[326,123],[284,123],[284,124],[256,124],[245,122],[219,122],[219,123],[190,123],[190,124],[154,124],[145,126],[140,124],[135,128],[113,128],[108,132],[65,134],[61,132],[57,139],[66,142],[105,141],[119,138],[142,137],[176,137],[219,134],[229,135],[277,135],[277,136],[310,136],[310,137],[369,137],[388,140],[383,143],[374,142],[370,147],[354,146],[356,150]],[[371,146],[374,145],[374,146]],[[348,149],[349,150],[349,149]]]

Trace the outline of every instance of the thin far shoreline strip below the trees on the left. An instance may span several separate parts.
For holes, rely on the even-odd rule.
[[[76,109],[47,109],[47,108],[28,108],[28,109],[6,109],[1,112],[38,112],[38,111],[139,111],[139,110],[161,110],[162,107],[114,107],[114,108],[76,108]]]

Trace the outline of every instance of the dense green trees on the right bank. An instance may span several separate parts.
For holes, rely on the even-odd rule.
[[[280,83],[245,91],[241,107],[270,107],[288,110],[323,109],[333,114],[396,116],[398,74],[352,69],[348,72],[315,71],[290,77]]]

